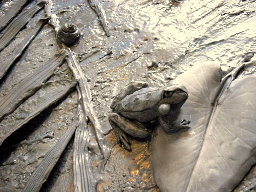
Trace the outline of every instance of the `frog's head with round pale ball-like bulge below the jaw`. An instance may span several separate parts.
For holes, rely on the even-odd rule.
[[[177,110],[181,108],[188,98],[188,91],[185,86],[173,83],[163,88],[161,96],[158,110],[160,114],[166,115],[170,109]]]

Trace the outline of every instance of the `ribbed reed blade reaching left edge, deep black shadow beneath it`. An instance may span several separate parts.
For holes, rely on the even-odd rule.
[[[27,99],[24,103],[12,113],[12,115],[5,118],[0,123],[0,146],[2,143],[15,131],[20,129],[23,125],[28,123],[31,119],[39,115],[42,111],[49,108],[49,106],[61,100],[63,97],[75,87],[76,82],[68,79],[58,79],[49,82],[41,87],[33,96]],[[28,108],[30,102],[36,102],[35,108]],[[26,111],[23,117],[19,117],[19,113]],[[17,119],[12,121],[12,119]]]

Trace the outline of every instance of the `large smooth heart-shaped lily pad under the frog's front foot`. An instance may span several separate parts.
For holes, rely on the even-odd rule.
[[[152,164],[162,192],[228,192],[256,162],[256,74],[234,79],[228,89],[221,74],[207,63],[177,78],[189,92],[178,120],[190,119],[191,129],[156,130]]]

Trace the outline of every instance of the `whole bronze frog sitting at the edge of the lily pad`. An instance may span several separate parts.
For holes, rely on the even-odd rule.
[[[110,108],[109,122],[115,132],[117,143],[132,151],[126,134],[136,138],[147,138],[151,130],[145,124],[155,122],[166,133],[175,133],[190,128],[190,120],[176,118],[181,106],[188,98],[187,89],[172,80],[163,87],[149,87],[146,82],[135,81],[120,90]]]

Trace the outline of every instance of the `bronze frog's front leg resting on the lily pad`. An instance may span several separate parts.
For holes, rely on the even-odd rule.
[[[180,122],[170,123],[168,116],[162,115],[159,117],[159,123],[163,127],[164,131],[167,133],[175,133],[180,130],[189,129],[190,120],[182,119]]]

